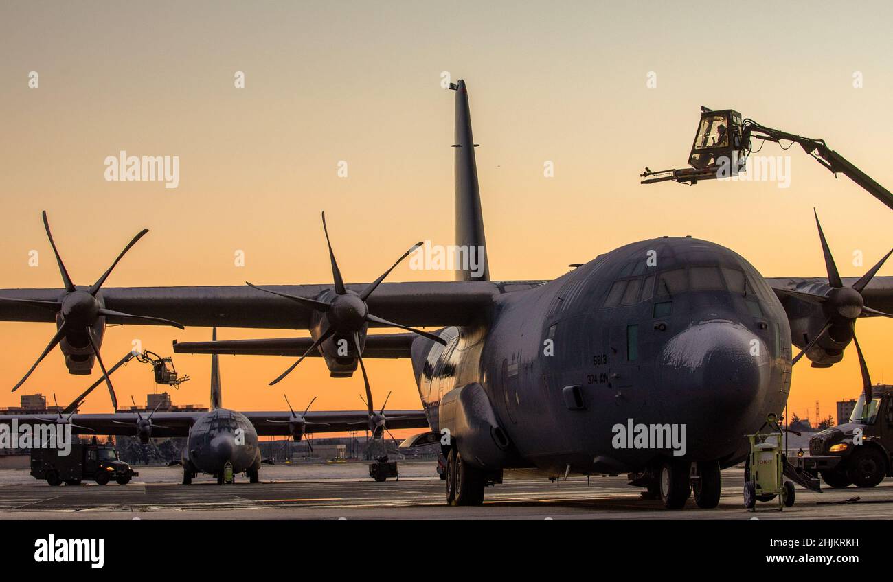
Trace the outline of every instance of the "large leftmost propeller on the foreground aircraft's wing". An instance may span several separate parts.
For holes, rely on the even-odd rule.
[[[63,263],[62,256],[59,254],[59,250],[56,248],[55,242],[53,240],[53,233],[50,231],[50,223],[46,220],[46,211],[43,212],[44,219],[44,229],[46,229],[46,237],[50,240],[50,246],[53,247],[53,253],[55,254],[56,262],[59,265],[59,273],[62,275],[63,286],[65,287],[65,295],[58,301],[38,301],[33,299],[13,299],[8,297],[0,297],[0,301],[10,302],[10,303],[21,303],[24,305],[29,305],[31,307],[38,307],[40,309],[46,309],[49,311],[53,311],[56,313],[55,320],[58,325],[56,332],[52,339],[50,339],[50,343],[46,345],[44,351],[40,353],[38,356],[38,361],[34,362],[34,365],[25,373],[25,375],[19,380],[19,383],[13,387],[13,392],[19,389],[22,384],[25,383],[25,380],[29,378],[31,373],[37,369],[38,364],[46,358],[46,354],[53,351],[53,348],[56,345],[59,345],[63,339],[66,339],[71,345],[89,345],[90,350],[96,355],[96,362],[99,362],[99,368],[103,371],[103,378],[105,378],[105,384],[109,388],[109,394],[112,396],[112,402],[114,403],[115,408],[118,408],[118,400],[114,394],[114,388],[112,387],[112,380],[109,378],[108,372],[105,370],[105,364],[103,362],[102,356],[99,354],[99,345],[96,337],[94,337],[94,325],[96,324],[96,320],[100,317],[112,316],[118,320],[123,320],[125,322],[133,322],[133,323],[146,323],[146,322],[154,322],[163,325],[171,325],[175,328],[182,329],[181,326],[176,321],[171,320],[163,320],[157,317],[146,317],[144,315],[130,315],[129,313],[115,312],[110,309],[106,309],[104,307],[104,303],[97,298],[96,295],[99,293],[99,290],[103,287],[105,283],[105,279],[108,279],[109,275],[112,274],[112,270],[121,261],[121,257],[124,256],[129,250],[130,247],[137,244],[137,241],[144,237],[146,233],[149,231],[148,229],[142,229],[138,232],[136,237],[130,240],[129,244],[124,247],[124,250],[118,254],[118,257],[112,263],[108,269],[96,279],[96,283],[91,285],[90,287],[76,287],[74,283],[71,281],[71,277],[68,274],[68,270],[65,269],[65,263]]]

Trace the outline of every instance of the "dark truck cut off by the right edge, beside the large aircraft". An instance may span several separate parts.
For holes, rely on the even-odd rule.
[[[849,421],[826,428],[809,440],[798,469],[822,476],[830,487],[873,487],[891,473],[893,386],[876,385],[859,396]]]

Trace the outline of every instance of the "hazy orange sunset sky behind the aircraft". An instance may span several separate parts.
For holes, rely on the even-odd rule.
[[[466,79],[493,279],[551,279],[572,262],[642,238],[705,238],[767,277],[824,275],[812,209],[843,276],[893,246],[893,212],[802,150],[790,187],[772,182],[642,186],[682,167],[703,104],[822,137],[893,187],[889,163],[891,4],[619,2],[44,3],[0,8],[0,287],[59,287],[40,211],[72,278],[89,285],[139,229],[150,233],[109,287],[330,283],[319,214],[348,282],[377,277],[416,240],[453,243],[454,94]],[[29,88],[29,72],[39,86]],[[244,71],[245,88],[234,87]],[[650,72],[656,87],[647,87]],[[863,79],[854,87],[854,75]],[[178,155],[179,187],[110,182],[104,159]],[[346,161],[348,177],[338,177]],[[544,162],[555,177],[543,176]],[[29,267],[37,250],[39,266]],[[244,251],[238,267],[234,254]],[[864,266],[853,265],[855,251]],[[893,275],[893,264],[880,270]],[[388,278],[452,279],[413,271]],[[861,320],[875,381],[893,382],[893,321]],[[0,322],[0,386],[13,387],[54,326]],[[304,334],[305,332],[295,332]],[[108,365],[138,338],[164,355],[208,328],[113,327]],[[287,337],[222,328],[222,339]],[[208,402],[210,360],[178,355],[193,379],[175,403]],[[321,359],[221,360],[224,403],[242,410],[360,409],[362,378]],[[371,361],[373,393],[419,408],[408,361]],[[29,393],[67,403],[98,378],[70,376],[58,350]],[[113,376],[121,403],[145,402],[149,369]],[[855,348],[830,370],[801,363],[793,412],[814,419],[860,392]],[[0,406],[19,393],[0,390]],[[108,412],[104,389],[82,412]]]

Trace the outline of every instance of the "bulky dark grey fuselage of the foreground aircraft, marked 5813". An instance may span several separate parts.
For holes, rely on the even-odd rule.
[[[431,428],[443,395],[480,383],[520,464],[559,474],[672,454],[617,446],[617,425],[681,428],[677,454],[729,466],[789,393],[789,324],[771,287],[739,254],[688,237],[623,246],[440,334],[446,347],[413,343]]]

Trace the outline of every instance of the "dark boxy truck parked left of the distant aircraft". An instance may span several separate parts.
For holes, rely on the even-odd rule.
[[[127,485],[138,472],[118,458],[112,445],[72,443],[69,454],[56,448],[31,449],[31,476],[46,479],[51,486],[80,485],[87,479],[105,485],[114,479]]]

